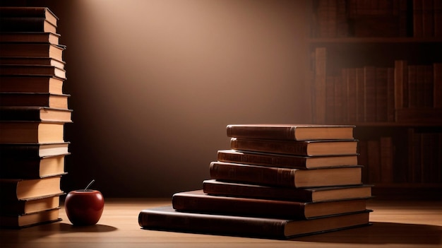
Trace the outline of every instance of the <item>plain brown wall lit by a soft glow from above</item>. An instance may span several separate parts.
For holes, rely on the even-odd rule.
[[[64,191],[92,179],[105,197],[201,189],[227,124],[310,120],[304,1],[13,4],[60,18],[73,109]]]

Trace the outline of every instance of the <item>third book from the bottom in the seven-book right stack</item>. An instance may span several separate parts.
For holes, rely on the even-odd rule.
[[[205,194],[306,202],[369,198],[371,197],[371,187],[372,185],[369,184],[360,184],[338,187],[294,188],[225,182],[215,179],[203,181]]]

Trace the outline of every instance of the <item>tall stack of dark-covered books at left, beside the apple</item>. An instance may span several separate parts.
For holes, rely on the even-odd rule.
[[[60,220],[71,110],[57,20],[45,7],[0,7],[1,228]]]

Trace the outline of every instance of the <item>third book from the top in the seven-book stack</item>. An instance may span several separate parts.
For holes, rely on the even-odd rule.
[[[357,154],[312,157],[283,155],[277,153],[243,152],[239,150],[218,150],[217,160],[220,162],[243,163],[247,165],[263,165],[297,169],[333,167],[340,165],[358,165]]]

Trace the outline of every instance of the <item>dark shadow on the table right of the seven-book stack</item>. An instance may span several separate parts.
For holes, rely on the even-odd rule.
[[[386,222],[371,224],[361,228],[294,237],[290,240],[349,244],[442,244],[442,226]]]

